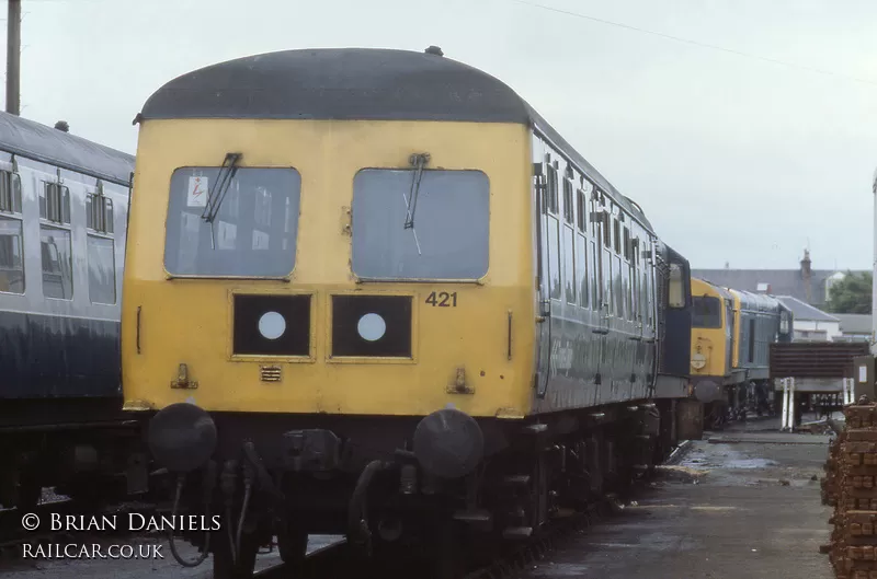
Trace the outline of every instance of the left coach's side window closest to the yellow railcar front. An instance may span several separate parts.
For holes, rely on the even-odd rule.
[[[91,303],[116,303],[115,242],[113,240],[113,199],[98,190],[86,197],[86,227],[89,245],[89,299]]]

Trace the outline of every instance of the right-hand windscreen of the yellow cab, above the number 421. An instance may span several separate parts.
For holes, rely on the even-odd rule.
[[[554,176],[553,176],[554,174]],[[415,171],[363,169],[353,178],[353,273],[367,279],[478,279],[488,270],[490,182],[481,171],[423,170],[409,200]],[[548,210],[551,183],[548,170]],[[555,189],[556,195],[556,189]],[[556,218],[547,218],[557,224]],[[550,239],[550,235],[549,235]],[[551,286],[560,281],[557,227],[550,244]]]

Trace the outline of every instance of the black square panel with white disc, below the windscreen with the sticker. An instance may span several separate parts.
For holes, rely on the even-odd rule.
[[[310,355],[310,296],[235,296],[234,354]]]

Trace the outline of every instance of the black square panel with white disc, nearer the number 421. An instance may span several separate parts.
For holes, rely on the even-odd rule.
[[[411,358],[410,296],[332,296],[332,356]]]

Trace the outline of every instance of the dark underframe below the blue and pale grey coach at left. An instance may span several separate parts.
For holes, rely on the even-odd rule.
[[[138,420],[115,399],[5,399],[0,404],[0,506],[32,509],[44,487],[86,506],[149,488]]]

